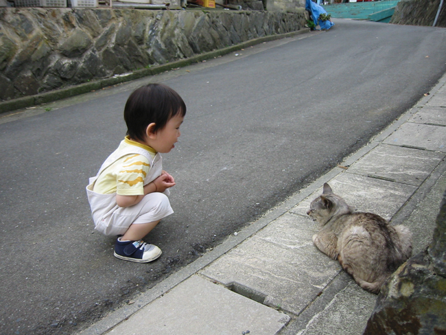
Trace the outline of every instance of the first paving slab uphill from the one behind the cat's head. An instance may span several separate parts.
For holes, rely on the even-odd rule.
[[[353,163],[349,173],[419,186],[445,156],[443,152],[382,144]]]

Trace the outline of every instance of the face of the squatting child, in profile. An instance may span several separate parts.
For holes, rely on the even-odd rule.
[[[180,126],[184,119],[180,114],[169,119],[163,129],[148,137],[148,145],[162,154],[170,152],[170,150],[175,148],[175,143],[181,135]]]

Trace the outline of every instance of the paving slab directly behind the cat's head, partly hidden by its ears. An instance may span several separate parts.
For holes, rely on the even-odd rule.
[[[329,181],[333,192],[342,196],[357,211],[369,211],[390,220],[415,192],[412,185],[344,172]],[[309,204],[322,193],[322,185],[314,194],[292,208],[293,213],[306,216]]]

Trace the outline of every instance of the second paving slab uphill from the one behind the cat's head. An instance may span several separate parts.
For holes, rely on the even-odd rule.
[[[446,152],[446,131],[441,126],[406,122],[385,139],[384,143]]]

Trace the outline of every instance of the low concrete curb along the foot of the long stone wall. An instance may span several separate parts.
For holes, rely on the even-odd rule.
[[[140,69],[133,71],[131,73],[124,73],[121,75],[113,76],[110,78],[105,78],[101,80],[94,80],[92,82],[85,82],[76,86],[69,86],[64,89],[58,89],[54,91],[49,91],[45,93],[40,93],[36,95],[30,95],[27,97],[19,97],[18,99],[8,100],[5,102],[0,102],[0,114],[10,111],[15,111],[16,109],[26,108],[30,106],[35,106],[38,104],[46,104],[48,102],[54,102],[56,100],[61,100],[66,97],[73,97],[75,95],[80,95],[84,93],[89,93],[91,91],[96,91],[104,87],[113,86],[115,84],[121,84],[123,82],[130,82],[143,77],[154,76],[165,71],[171,71],[172,69],[177,69],[179,67],[187,67],[196,62],[202,62],[203,60],[208,60],[218,56],[224,56],[230,54],[231,52],[250,47],[252,45],[257,45],[263,42],[269,42],[274,40],[279,40],[281,38],[290,38],[298,36],[300,34],[305,34],[309,32],[309,29],[298,30],[297,32],[289,32],[286,34],[270,35],[255,38],[250,41],[239,43],[237,45],[232,45],[231,47],[226,47],[224,49],[219,49],[215,51],[210,51],[205,54],[200,54],[193,56],[191,58],[186,58],[182,60],[176,60],[174,62],[169,62],[163,65],[157,65],[154,67],[149,67],[148,69]]]

